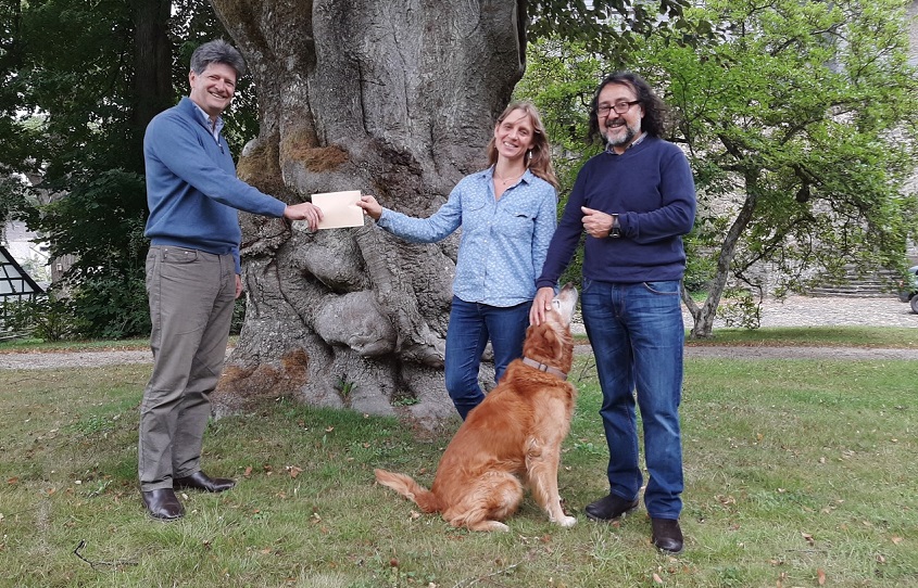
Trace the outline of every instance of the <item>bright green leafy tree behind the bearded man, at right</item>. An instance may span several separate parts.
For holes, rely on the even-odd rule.
[[[728,284],[742,287],[741,298],[781,294],[846,266],[904,264],[918,230],[905,183],[918,155],[905,7],[706,2],[682,18],[690,29],[714,23],[718,42],[689,47],[678,30],[661,29],[603,60],[589,46],[533,43],[518,93],[546,120],[579,122],[567,128],[586,124],[586,88],[599,72],[623,63],[663,94],[674,114],[668,138],[684,146],[699,188],[686,283],[709,293],[706,315],[690,305],[705,336],[710,324],[700,321],[713,319]],[[566,129],[552,132],[562,166],[576,170],[589,153]]]

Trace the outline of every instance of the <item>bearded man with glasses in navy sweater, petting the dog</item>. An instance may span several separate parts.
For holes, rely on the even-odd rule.
[[[664,104],[646,81],[613,74],[590,108],[590,136],[601,135],[607,149],[577,176],[536,281],[530,321],[544,320],[554,286],[586,231],[580,306],[603,391],[600,416],[609,451],[609,494],[586,513],[611,521],[638,507],[643,476],[637,396],[653,544],[678,553],[683,545],[681,235],[694,223],[694,182],[682,151],[659,138]]]

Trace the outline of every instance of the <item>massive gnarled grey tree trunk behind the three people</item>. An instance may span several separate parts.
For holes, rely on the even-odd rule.
[[[290,202],[361,190],[432,214],[486,165],[524,69],[516,2],[214,0],[247,57],[261,135],[244,180]],[[311,233],[244,216],[246,324],[218,411],[292,394],[422,421],[454,414],[442,376],[457,238],[410,245],[373,226]],[[492,372],[491,372],[492,373]]]

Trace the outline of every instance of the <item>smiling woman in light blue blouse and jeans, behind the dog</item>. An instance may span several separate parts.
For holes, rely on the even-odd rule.
[[[488,341],[494,379],[523,355],[536,278],[557,222],[557,179],[539,112],[529,102],[504,110],[488,143],[489,167],[463,178],[429,218],[359,206],[379,227],[413,243],[445,239],[462,227],[447,329],[447,392],[463,419],[485,395],[478,368]]]

